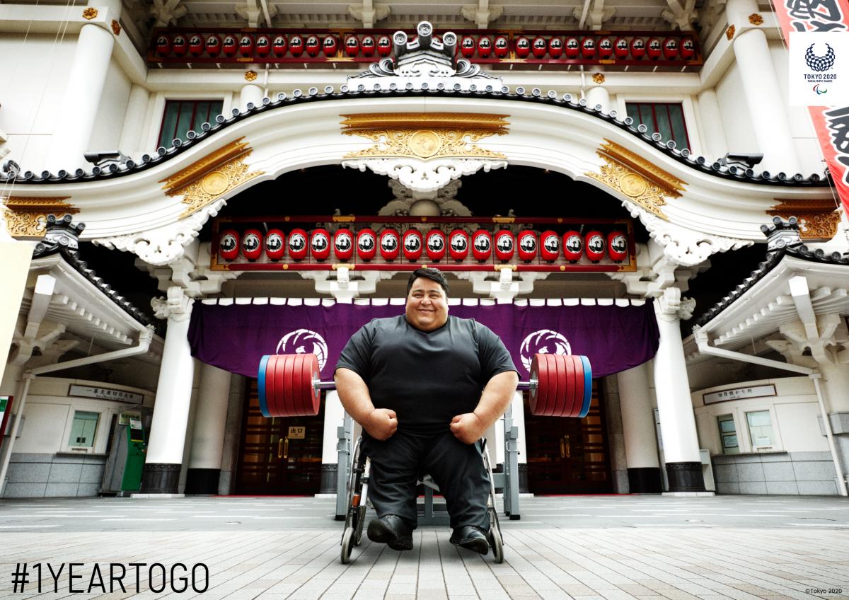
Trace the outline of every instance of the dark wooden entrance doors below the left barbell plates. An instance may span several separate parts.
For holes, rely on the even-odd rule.
[[[312,496],[321,488],[324,403],[315,417],[265,418],[250,380],[236,494]]]

